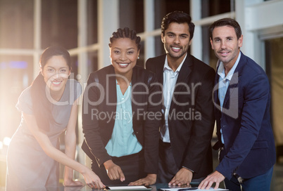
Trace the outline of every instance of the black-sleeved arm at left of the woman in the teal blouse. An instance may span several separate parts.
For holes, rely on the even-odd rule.
[[[103,75],[106,75],[106,73],[103,73]],[[114,124],[112,124],[112,120],[110,119],[100,119],[100,113],[111,113],[109,113],[107,104],[105,107],[101,107],[101,105],[104,105],[104,102],[106,102],[106,99],[108,99],[109,95],[106,94],[108,93],[108,87],[96,82],[95,79],[97,78],[98,74],[96,74],[96,72],[90,74],[87,80],[87,86],[84,89],[82,101],[82,132],[84,133],[84,141],[87,143],[86,145],[88,147],[84,148],[84,152],[89,154],[93,162],[97,162],[99,166],[101,166],[104,162],[111,160],[111,157],[107,153],[103,143],[102,139],[106,138],[106,135],[101,132],[101,123],[99,121],[107,121],[104,123],[105,126],[103,126],[103,129],[104,131],[108,129],[109,135],[112,130],[109,129],[108,126],[114,126]],[[101,81],[103,80],[109,79],[105,78]]]

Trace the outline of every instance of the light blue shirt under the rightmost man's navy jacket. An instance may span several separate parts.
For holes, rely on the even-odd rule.
[[[225,100],[225,95],[227,93],[228,86],[229,86],[230,81],[232,79],[232,76],[233,76],[233,74],[236,70],[236,67],[239,64],[240,58],[241,58],[241,52],[239,53],[239,56],[238,56],[236,62],[234,63],[233,67],[231,68],[231,70],[229,70],[227,76],[225,76],[225,67],[223,65],[223,62],[220,62],[220,65],[218,67],[218,75],[219,75],[218,98],[220,100],[221,111],[222,111],[223,102]],[[221,141],[224,144],[224,139],[223,139],[223,136],[222,136],[222,129],[220,129],[220,132],[221,132]]]

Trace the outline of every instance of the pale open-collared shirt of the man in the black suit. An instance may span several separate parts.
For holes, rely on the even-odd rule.
[[[187,54],[182,60],[182,62],[180,63],[179,67],[177,67],[177,70],[175,70],[175,72],[172,70],[171,67],[169,67],[167,56],[165,58],[165,64],[163,67],[163,100],[164,100],[164,103],[163,103],[163,109],[162,109],[162,112],[165,118],[165,124],[161,128],[161,138],[164,143],[170,143],[168,114],[170,110],[172,95],[175,89],[176,81],[178,79],[179,72],[186,58],[187,58]]]

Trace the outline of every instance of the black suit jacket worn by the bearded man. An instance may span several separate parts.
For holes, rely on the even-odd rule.
[[[165,55],[146,61],[146,70],[156,73],[161,84],[164,64]],[[193,178],[207,176],[213,171],[210,141],[215,124],[214,78],[213,68],[188,54],[178,75],[168,114],[175,162],[180,169],[184,166],[194,171]],[[185,116],[182,117],[182,114]]]

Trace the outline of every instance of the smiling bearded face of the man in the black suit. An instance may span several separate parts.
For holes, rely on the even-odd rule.
[[[166,54],[170,58],[183,59],[191,45],[189,37],[187,22],[181,24],[171,22],[168,29],[165,29],[164,35],[161,34]]]

